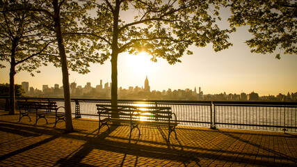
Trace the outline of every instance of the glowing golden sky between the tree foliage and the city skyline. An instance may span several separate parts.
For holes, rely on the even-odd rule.
[[[124,15],[125,17],[125,15]],[[227,18],[227,17],[226,17]],[[223,17],[224,19],[224,17]],[[221,26],[227,25],[221,22]],[[201,87],[204,95],[219,93],[259,93],[259,95],[278,95],[297,92],[297,55],[253,54],[244,43],[252,38],[248,27],[239,27],[230,35],[233,46],[230,49],[215,52],[211,44],[207,47],[190,47],[193,55],[184,55],[182,63],[169,65],[166,60],[150,61],[146,55],[129,55],[123,53],[118,58],[118,87],[144,86],[147,76],[150,90],[172,90]],[[3,63],[3,62],[1,62]],[[9,65],[0,69],[0,84],[9,83]],[[15,75],[15,84],[28,81],[29,86],[42,90],[42,85],[62,86],[61,68],[53,65],[40,67],[41,73],[31,77],[29,72]],[[110,59],[104,65],[91,64],[88,74],[70,71],[70,83],[86,86],[87,82],[96,87],[102,79],[103,84],[111,82]]]

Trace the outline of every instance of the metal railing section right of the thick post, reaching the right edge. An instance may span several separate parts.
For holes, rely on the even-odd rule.
[[[296,132],[296,102],[213,102],[214,128]]]

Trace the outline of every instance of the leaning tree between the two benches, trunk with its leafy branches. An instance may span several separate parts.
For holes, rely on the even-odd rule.
[[[38,19],[41,20],[42,26],[47,28],[47,32],[54,33],[54,45],[57,46],[57,49],[52,54],[58,54],[58,57],[49,56],[49,61],[52,61],[56,67],[61,66],[62,69],[65,99],[65,129],[66,132],[72,132],[68,67],[84,74],[89,72],[89,63],[100,63],[101,58],[94,49],[89,48],[88,39],[83,39],[81,35],[78,38],[76,35],[65,34],[73,31],[73,29],[78,29],[80,17],[86,14],[90,6],[88,3],[79,4],[72,0],[32,0],[26,2],[25,4],[17,4],[1,12],[22,10],[38,12],[40,14]],[[68,58],[67,54],[69,55]]]

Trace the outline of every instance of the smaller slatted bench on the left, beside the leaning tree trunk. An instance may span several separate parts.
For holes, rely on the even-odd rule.
[[[30,113],[35,114],[37,124],[40,118],[47,118],[45,116],[55,116],[56,121],[54,127],[59,120],[65,121],[65,112],[58,112],[58,109],[64,108],[64,106],[57,106],[56,102],[49,101],[17,101],[19,106],[19,122],[24,116],[29,117],[29,121],[31,122],[31,118],[29,116]],[[47,122],[48,123],[48,122]]]

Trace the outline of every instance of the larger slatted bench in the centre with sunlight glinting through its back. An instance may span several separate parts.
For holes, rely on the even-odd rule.
[[[123,122],[130,125],[130,136],[134,128],[138,129],[139,135],[141,130],[138,125],[154,125],[168,127],[168,142],[171,132],[175,132],[177,126],[177,116],[172,113],[170,107],[166,106],[128,106],[118,105],[111,106],[109,104],[96,104],[99,114],[99,129],[106,125],[109,129],[110,122]],[[110,132],[110,129],[109,129]],[[177,139],[177,133],[175,132]]]

